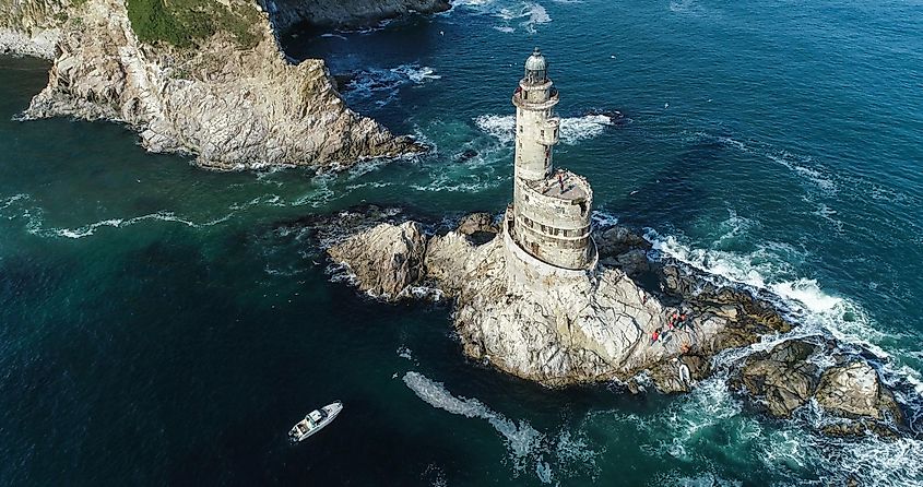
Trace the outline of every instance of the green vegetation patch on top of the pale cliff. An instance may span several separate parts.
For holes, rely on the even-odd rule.
[[[216,0],[128,0],[128,19],[138,38],[147,44],[191,47],[218,32],[227,32],[244,48],[259,37],[256,8],[242,2],[226,7]]]

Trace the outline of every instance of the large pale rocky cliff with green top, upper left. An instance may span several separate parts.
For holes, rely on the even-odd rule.
[[[7,50],[44,56],[55,46],[48,86],[24,119],[120,121],[152,152],[194,154],[218,169],[335,169],[424,149],[350,110],[323,61],[289,63],[257,3],[196,0],[164,16],[163,3],[133,1],[4,7],[3,32],[15,33],[0,35]]]

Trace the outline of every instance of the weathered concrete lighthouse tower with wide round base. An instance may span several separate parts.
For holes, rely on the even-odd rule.
[[[507,214],[509,236],[525,253],[567,270],[595,265],[590,237],[593,192],[581,176],[554,169],[560,136],[554,116],[558,91],[548,63],[536,47],[525,60],[525,75],[512,95],[516,106],[513,202]]]

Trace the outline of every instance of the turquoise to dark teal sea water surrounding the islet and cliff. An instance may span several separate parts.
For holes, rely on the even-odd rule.
[[[601,217],[773,290],[796,333],[866,349],[919,403],[921,32],[911,1],[471,0],[301,33],[289,55],[328,59],[353,107],[434,146],[340,176],[211,173],[117,124],[12,121],[48,67],[2,58],[0,483],[921,485],[920,439],[825,439],[816,411],[767,419],[720,378],[637,397],[466,361],[449,308],[331,282],[288,225],[365,202],[500,211],[509,97],[539,45],[561,91],[556,161]],[[343,417],[289,447],[334,399]]]

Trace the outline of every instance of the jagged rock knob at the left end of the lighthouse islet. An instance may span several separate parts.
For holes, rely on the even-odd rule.
[[[426,237],[415,222],[380,224],[331,247],[328,253],[350,268],[362,290],[398,300],[424,276]]]

